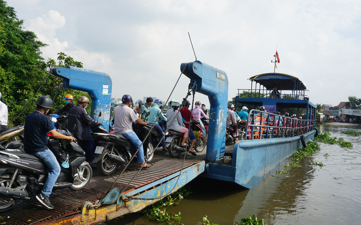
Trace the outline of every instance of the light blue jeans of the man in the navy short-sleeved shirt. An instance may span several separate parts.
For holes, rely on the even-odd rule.
[[[45,151],[34,152],[33,154],[38,158],[41,158],[49,169],[49,173],[44,183],[42,192],[44,195],[50,195],[56,179],[60,174],[60,165],[56,160],[55,155],[49,149],[46,149]]]

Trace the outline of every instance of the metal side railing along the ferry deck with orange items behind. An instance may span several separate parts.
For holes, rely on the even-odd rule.
[[[270,112],[251,110],[245,129],[245,140],[287,138],[315,129],[315,120],[298,119]]]

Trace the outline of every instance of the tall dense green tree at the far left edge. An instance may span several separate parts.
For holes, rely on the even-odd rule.
[[[40,48],[46,44],[37,40],[33,32],[24,31],[22,25],[14,8],[0,0],[0,91],[2,101],[8,106],[9,121],[23,111],[45,76],[46,65]],[[30,111],[13,124],[24,121]]]

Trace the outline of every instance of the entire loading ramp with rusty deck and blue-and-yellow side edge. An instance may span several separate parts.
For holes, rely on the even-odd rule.
[[[157,150],[152,167],[136,174],[138,163],[131,163],[118,179],[121,170],[112,176],[101,176],[93,168],[91,182],[82,190],[65,188],[52,192],[50,200],[54,209],[45,209],[36,199],[25,200],[1,213],[0,223],[91,225],[108,221],[139,211],[177,191],[205,170],[204,158],[205,150],[203,155],[187,154],[185,159],[183,154],[180,158],[171,158],[167,152]],[[95,204],[97,201],[100,204]]]

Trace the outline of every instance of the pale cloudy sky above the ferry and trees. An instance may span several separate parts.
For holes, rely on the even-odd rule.
[[[88,70],[107,73],[112,97],[167,100],[181,63],[197,60],[226,72],[228,100],[249,89],[249,77],[298,77],[314,104],[361,98],[360,0],[8,0],[48,44],[42,56],[64,52]],[[181,101],[181,76],[170,99]],[[191,98],[189,98],[191,100]],[[208,97],[195,101],[209,107]]]

